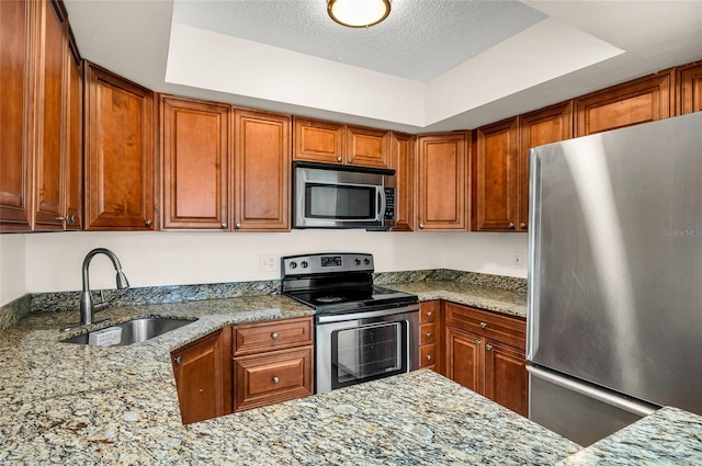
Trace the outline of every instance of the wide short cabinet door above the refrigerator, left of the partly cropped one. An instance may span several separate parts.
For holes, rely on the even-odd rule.
[[[672,115],[672,72],[614,86],[574,102],[575,136],[587,136]]]

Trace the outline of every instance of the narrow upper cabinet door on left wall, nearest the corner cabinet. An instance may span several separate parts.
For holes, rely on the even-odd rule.
[[[83,205],[83,78],[82,62],[72,34],[67,41],[67,92],[66,110],[66,167],[64,170],[64,195],[66,229],[80,230]]]

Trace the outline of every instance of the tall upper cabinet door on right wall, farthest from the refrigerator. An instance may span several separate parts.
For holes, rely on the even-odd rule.
[[[476,231],[516,231],[518,135],[517,118],[476,130],[472,197],[473,229]]]

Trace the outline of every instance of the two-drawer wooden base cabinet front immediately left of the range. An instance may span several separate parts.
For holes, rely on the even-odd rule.
[[[234,411],[314,394],[310,317],[233,327]]]

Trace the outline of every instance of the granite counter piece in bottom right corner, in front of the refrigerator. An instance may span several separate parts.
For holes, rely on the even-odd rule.
[[[566,458],[562,465],[700,465],[702,416],[665,407]]]

